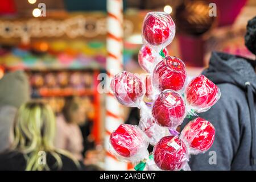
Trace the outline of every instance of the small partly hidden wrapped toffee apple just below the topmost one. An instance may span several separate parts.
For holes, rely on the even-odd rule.
[[[163,53],[166,56],[169,54],[166,48],[163,48]],[[156,65],[160,60],[162,60],[162,56],[159,55],[159,52],[156,52],[154,49],[148,46],[142,46],[141,50],[139,51],[139,65],[141,65],[141,68],[147,73],[151,73],[152,69],[154,69],[154,65]]]

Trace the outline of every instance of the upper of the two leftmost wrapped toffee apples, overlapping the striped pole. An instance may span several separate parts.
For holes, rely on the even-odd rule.
[[[110,84],[115,98],[122,105],[140,107],[146,92],[141,78],[130,72],[120,72],[114,76]]]

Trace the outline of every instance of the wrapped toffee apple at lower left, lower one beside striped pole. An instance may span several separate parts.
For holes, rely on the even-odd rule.
[[[148,157],[148,142],[138,126],[122,124],[110,135],[110,152],[119,160],[138,162]]]

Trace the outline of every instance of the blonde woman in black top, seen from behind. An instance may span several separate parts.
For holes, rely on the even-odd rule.
[[[14,142],[0,155],[0,170],[79,170],[84,165],[53,146],[55,115],[42,102],[20,107],[14,123]]]

